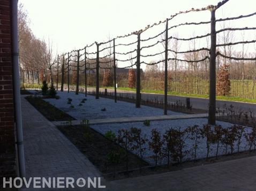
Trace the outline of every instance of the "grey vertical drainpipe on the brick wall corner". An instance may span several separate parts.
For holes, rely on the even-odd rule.
[[[18,44],[18,0],[11,1],[12,6],[12,67],[13,67],[13,98],[14,98],[14,117],[17,131],[17,148],[19,177],[25,177],[25,157],[23,144],[23,131],[20,104],[20,73],[19,73],[19,44]]]

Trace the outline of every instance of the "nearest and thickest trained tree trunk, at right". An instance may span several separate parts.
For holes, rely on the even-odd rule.
[[[210,91],[208,124],[215,125],[216,113],[216,20],[215,9],[210,11]]]

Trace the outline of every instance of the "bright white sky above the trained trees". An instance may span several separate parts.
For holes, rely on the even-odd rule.
[[[178,11],[189,10],[192,7],[206,7],[209,4],[216,5],[219,0],[19,0],[19,2],[24,4],[28,12],[31,28],[36,37],[41,39],[49,37],[55,48],[58,47],[58,52],[66,52],[95,41],[107,41],[109,36],[112,38],[142,29],[148,24],[169,18]],[[216,18],[249,14],[255,10],[255,0],[230,0],[217,11]],[[209,11],[189,13],[187,16],[177,17],[176,20],[169,22],[169,25],[209,19]],[[255,27],[255,16],[236,22],[235,25],[231,22],[231,25],[238,26],[238,23],[239,26]],[[164,29],[164,26],[161,27]],[[178,35],[190,37],[197,29],[197,26],[183,29],[178,31]],[[196,34],[206,34],[207,30],[209,26],[200,29]]]

